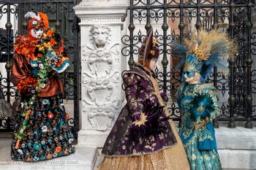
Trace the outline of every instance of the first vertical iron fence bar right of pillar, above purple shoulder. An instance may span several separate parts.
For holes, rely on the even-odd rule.
[[[135,30],[135,25],[133,23],[133,0],[130,0],[130,10],[129,10],[129,68],[132,69],[135,61],[133,59],[133,31]]]

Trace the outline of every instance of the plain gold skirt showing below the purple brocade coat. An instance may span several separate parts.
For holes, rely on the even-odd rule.
[[[105,157],[99,170],[189,170],[187,155],[173,120],[169,123],[177,139],[176,145],[148,155]]]

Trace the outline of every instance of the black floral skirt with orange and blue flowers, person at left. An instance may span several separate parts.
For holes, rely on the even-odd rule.
[[[29,125],[22,132],[23,138],[18,139],[16,133],[23,125],[23,104],[29,98],[21,99],[15,129],[12,138],[11,155],[13,160],[43,161],[73,152],[72,138],[68,118],[61,95],[47,98],[36,98],[31,107]]]

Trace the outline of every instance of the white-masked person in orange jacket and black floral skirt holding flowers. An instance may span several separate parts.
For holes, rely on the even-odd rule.
[[[29,35],[15,41],[11,82],[20,91],[11,155],[18,161],[43,161],[74,152],[64,86],[58,74],[69,66],[64,41],[48,29],[42,12],[27,12]]]

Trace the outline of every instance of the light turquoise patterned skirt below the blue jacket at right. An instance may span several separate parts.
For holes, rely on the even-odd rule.
[[[198,150],[197,135],[186,144],[186,152],[192,170],[221,170],[219,155],[215,150]]]

